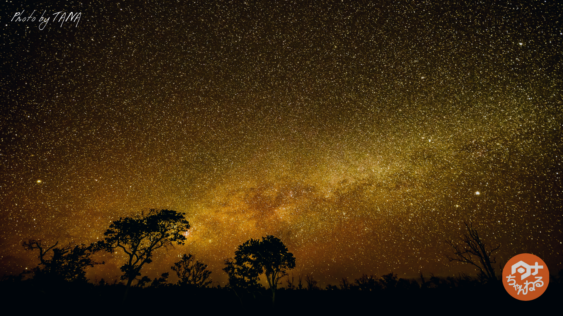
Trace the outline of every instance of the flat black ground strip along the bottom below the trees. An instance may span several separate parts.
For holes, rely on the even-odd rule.
[[[310,314],[310,313],[542,313],[561,312],[563,291],[560,283],[551,282],[546,292],[532,301],[511,297],[502,285],[467,287],[432,287],[411,290],[285,290],[276,292],[272,308],[269,291],[257,292],[256,298],[241,300],[225,288],[187,289],[176,286],[131,288],[122,303],[124,286],[65,284],[39,286],[32,282],[1,282],[4,310],[24,314],[104,314],[126,313],[205,313],[205,314]]]

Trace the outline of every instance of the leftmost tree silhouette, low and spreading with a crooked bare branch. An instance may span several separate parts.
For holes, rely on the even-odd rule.
[[[41,267],[35,267],[32,272],[34,279],[44,281],[82,281],[86,282],[86,268],[100,264],[91,258],[95,252],[94,244],[86,246],[69,245],[56,247],[55,245],[43,245],[41,240],[29,240],[23,243],[25,250],[39,250],[39,261]],[[101,264],[104,264],[103,262]]]

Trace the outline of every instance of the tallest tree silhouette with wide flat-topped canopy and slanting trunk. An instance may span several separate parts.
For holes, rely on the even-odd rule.
[[[105,240],[99,241],[97,247],[108,252],[122,249],[128,256],[122,265],[122,280],[127,280],[123,297],[126,299],[133,280],[141,275],[141,268],[153,260],[153,252],[161,247],[165,249],[173,243],[184,245],[184,232],[190,228],[185,219],[186,213],[172,210],[150,210],[148,214],[137,214],[132,217],[119,218],[104,233]]]

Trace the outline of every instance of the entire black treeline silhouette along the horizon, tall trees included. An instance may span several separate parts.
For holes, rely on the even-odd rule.
[[[17,275],[3,276],[0,282],[4,304],[44,309],[46,306],[83,309],[112,308],[128,311],[154,312],[251,312],[257,308],[281,311],[283,308],[326,310],[367,308],[377,310],[416,309],[415,306],[449,306],[463,304],[493,306],[504,304],[504,310],[519,310],[522,305],[510,297],[495,274],[491,254],[499,246],[486,245],[471,224],[462,245],[448,241],[454,256],[452,261],[475,265],[476,277],[458,274],[457,277],[437,277],[433,274],[416,279],[398,278],[390,272],[382,276],[362,274],[349,281],[342,278],[338,284],[321,287],[313,274],[294,275],[293,254],[279,238],[262,237],[238,246],[234,257],[225,260],[224,272],[228,282],[224,287],[213,282],[207,265],[191,254],[184,254],[171,266],[178,281],[168,281],[170,272],[150,279],[142,276],[142,267],[150,264],[155,251],[173,244],[183,245],[184,232],[190,225],[185,213],[171,210],[150,210],[114,221],[104,233],[104,240],[90,245],[44,245],[41,240],[29,240],[23,247],[38,252],[37,267]],[[92,259],[97,251],[122,251],[127,260],[120,280],[88,280],[86,269],[105,264]],[[267,287],[260,281],[267,281]],[[560,301],[563,288],[563,270],[552,275],[549,287],[536,303],[552,304]],[[374,305],[375,304],[375,305]],[[395,306],[395,305],[396,306]],[[418,304],[418,305],[417,305]],[[463,305],[462,304],[462,305]],[[555,304],[555,303],[553,303]],[[373,305],[373,306],[372,306]],[[284,307],[285,306],[285,307]],[[376,308],[377,306],[377,308]],[[500,306],[500,305],[499,305]],[[459,309],[458,309],[459,310]]]

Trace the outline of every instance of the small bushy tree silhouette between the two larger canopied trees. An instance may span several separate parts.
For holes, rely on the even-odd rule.
[[[211,271],[207,270],[207,264],[194,260],[191,254],[184,254],[182,259],[171,267],[178,276],[178,285],[207,287],[212,282],[211,279],[208,280]]]

